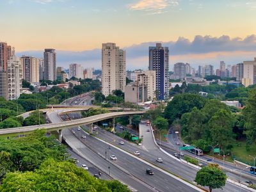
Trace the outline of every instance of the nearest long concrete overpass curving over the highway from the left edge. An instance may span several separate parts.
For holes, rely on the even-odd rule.
[[[62,111],[61,113],[67,113],[67,111]],[[44,125],[32,125],[26,127],[15,127],[9,129],[0,129],[0,136],[4,135],[17,135],[17,134],[25,134],[29,132],[33,132],[36,129],[46,129],[46,131],[58,131],[60,134],[60,141],[62,139],[61,130],[68,129],[72,127],[78,127],[81,125],[92,125],[95,122],[99,122],[102,120],[106,120],[109,118],[116,118],[119,116],[131,116],[131,115],[142,115],[145,111],[122,111],[122,112],[112,112],[112,113],[104,113],[100,115],[89,116],[86,118],[81,118],[78,120],[71,120],[68,122],[61,122],[58,124],[44,124]]]

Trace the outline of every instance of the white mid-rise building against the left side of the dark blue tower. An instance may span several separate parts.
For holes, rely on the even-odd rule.
[[[136,81],[147,86],[147,99],[153,100],[156,97],[156,71],[146,70],[137,74]]]

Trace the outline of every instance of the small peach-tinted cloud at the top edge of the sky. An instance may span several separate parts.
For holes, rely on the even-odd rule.
[[[130,10],[145,10],[154,14],[164,13],[170,6],[178,6],[179,0],[140,0],[137,3],[129,4]]]

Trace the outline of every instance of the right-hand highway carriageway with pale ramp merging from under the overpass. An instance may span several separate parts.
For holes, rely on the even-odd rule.
[[[163,152],[159,150],[159,148],[156,147],[154,144],[154,140],[152,137],[152,132],[147,132],[149,129],[148,126],[140,124],[140,134],[143,135],[143,145],[138,146],[134,143],[130,143],[128,141],[124,141],[124,145],[120,145],[119,142],[122,140],[115,134],[105,131],[103,129],[96,129],[96,131],[93,131],[93,134],[96,134],[99,138],[102,138],[103,140],[108,141],[109,143],[113,143],[115,145],[118,145],[118,147],[123,148],[124,150],[127,150],[131,153],[133,153],[136,150],[140,151],[140,157],[143,159],[147,159],[147,161],[150,161],[151,163],[155,163],[158,166],[161,166],[161,168],[164,168],[165,170],[169,170],[170,172],[176,173],[177,175],[180,175],[181,177],[193,181],[195,179],[196,170],[195,168],[188,166],[186,164],[181,163],[180,161],[177,161],[177,158],[173,156],[167,156]],[[174,152],[174,151],[173,151]],[[171,152],[171,154],[173,154]],[[177,151],[175,151],[177,152]],[[156,158],[161,157],[163,159],[163,163],[157,163]],[[223,188],[224,191],[246,191],[244,189],[239,188],[238,186],[234,186],[233,184],[227,183],[225,188]],[[214,189],[214,191],[222,191],[218,189]]]

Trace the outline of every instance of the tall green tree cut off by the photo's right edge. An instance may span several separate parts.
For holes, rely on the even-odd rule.
[[[256,141],[256,88],[250,90],[243,114],[246,120],[244,127],[247,142],[251,144]]]

